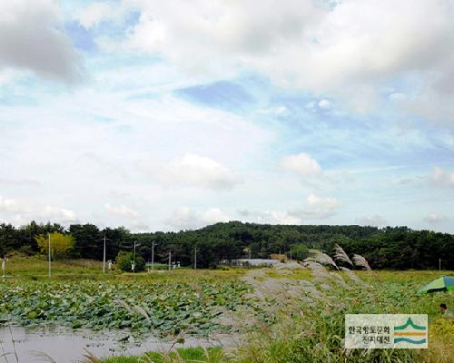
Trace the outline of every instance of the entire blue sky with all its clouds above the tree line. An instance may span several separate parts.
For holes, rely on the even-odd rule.
[[[454,231],[452,2],[0,12],[0,221]]]

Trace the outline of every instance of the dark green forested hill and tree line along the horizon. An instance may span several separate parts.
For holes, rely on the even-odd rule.
[[[366,257],[375,269],[438,269],[439,259],[445,269],[454,269],[454,236],[433,231],[412,231],[407,227],[360,226],[287,226],[242,223],[217,223],[195,231],[131,233],[123,227],[104,230],[93,224],[74,224],[65,230],[58,224],[36,224],[15,228],[0,225],[0,253],[11,250],[37,251],[35,236],[49,231],[71,233],[75,240],[73,258],[101,260],[103,237],[107,240],[107,259],[114,260],[119,250],[132,250],[145,260],[172,260],[192,265],[194,248],[200,267],[215,266],[221,260],[251,256],[268,258],[271,253],[290,255],[302,260],[310,248],[331,253],[335,243],[347,251]]]

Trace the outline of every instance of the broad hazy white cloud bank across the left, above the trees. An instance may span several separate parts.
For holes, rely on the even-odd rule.
[[[0,165],[7,171],[0,178],[26,177],[42,184],[39,190],[3,184],[1,194],[64,207],[81,221],[134,229],[140,220],[152,231],[162,229],[163,215],[178,206],[197,205],[199,211],[200,201],[207,201],[206,209],[233,203],[233,191],[244,186],[236,185],[242,180],[233,171],[247,173],[268,157],[271,132],[170,95],[131,99],[124,88],[112,91],[119,86],[108,81],[114,75],[100,75],[101,83],[83,84],[71,93],[38,92],[37,103],[0,104]],[[228,194],[213,192],[233,186]],[[111,191],[121,192],[114,196]],[[107,202],[133,207],[140,218],[107,213]],[[39,217],[21,215],[28,221]]]

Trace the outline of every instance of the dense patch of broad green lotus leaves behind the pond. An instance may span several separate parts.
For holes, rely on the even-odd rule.
[[[142,280],[7,280],[0,285],[3,321],[23,326],[131,329],[142,334],[206,335],[220,309],[246,303],[248,288],[229,279],[182,275]]]

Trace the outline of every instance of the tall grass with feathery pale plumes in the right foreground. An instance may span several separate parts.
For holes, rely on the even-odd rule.
[[[335,260],[347,260],[342,252],[337,250],[338,259]],[[277,289],[267,289],[270,286],[267,280],[255,280],[254,288],[261,292],[262,301],[281,300],[285,303],[278,304],[280,309],[273,310],[278,323],[268,329],[250,332],[247,342],[229,357],[231,362],[454,361],[454,335],[450,335],[450,327],[454,330],[454,325],[446,320],[443,321],[444,325],[441,325],[440,320],[434,321],[439,302],[449,300],[451,305],[454,302],[452,291],[421,296],[417,291],[424,279],[416,272],[385,272],[384,276],[392,276],[392,279],[377,279],[377,275],[370,273],[367,261],[360,256],[353,257],[352,265],[367,271],[342,269],[338,272],[333,270],[337,269],[333,260],[320,251],[313,251],[313,254],[305,263],[312,270],[311,282],[304,281],[301,289],[295,289],[294,280],[279,281],[281,291],[293,290],[298,292],[297,295],[293,294],[289,298],[282,293],[272,298]],[[331,271],[322,264],[331,268]],[[378,275],[381,276],[381,273]],[[431,275],[436,274],[432,272]],[[271,310],[265,308],[264,311]],[[429,349],[345,349],[343,337],[346,313],[429,313]]]

